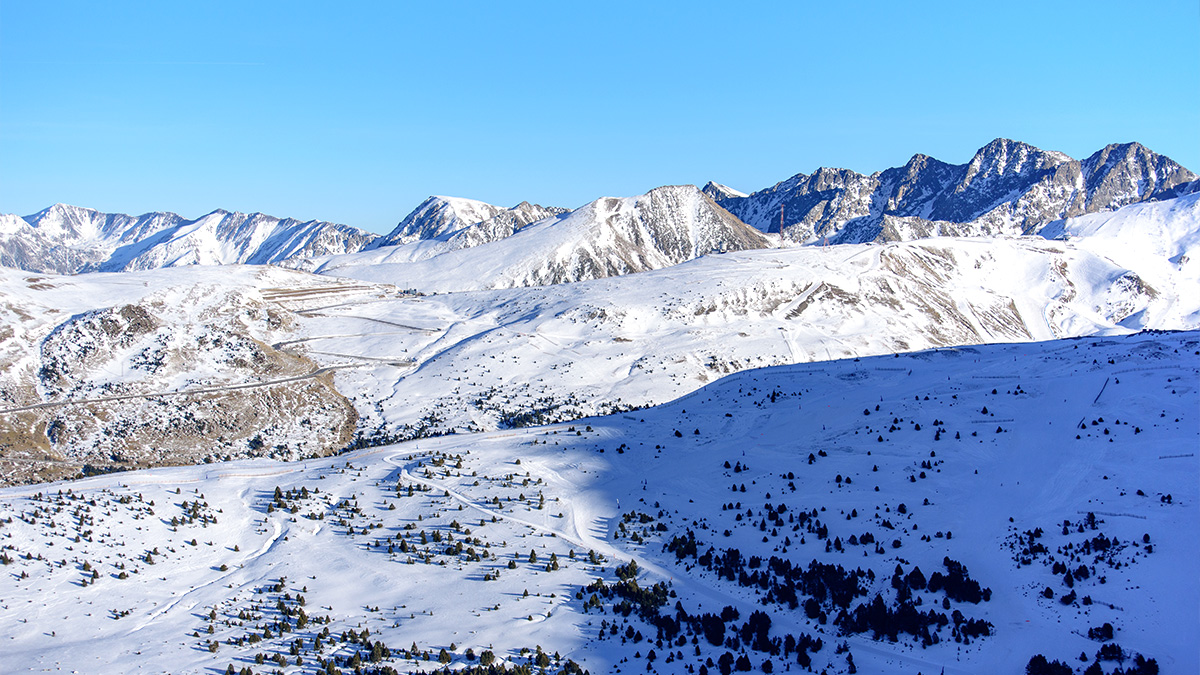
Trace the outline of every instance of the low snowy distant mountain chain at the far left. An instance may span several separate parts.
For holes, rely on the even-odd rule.
[[[271,264],[359,251],[377,237],[323,221],[216,210],[196,220],[170,213],[103,214],[55,204],[25,219],[2,216],[0,265],[77,274],[194,264]]]

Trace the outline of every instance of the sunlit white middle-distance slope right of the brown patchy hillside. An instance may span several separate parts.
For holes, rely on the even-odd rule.
[[[422,281],[440,280],[431,271],[401,283]],[[490,430],[530,408],[565,419],[662,402],[762,365],[1200,328],[1190,288],[1166,259],[1130,270],[1073,243],[943,238],[742,251],[582,283],[370,299],[308,312],[301,330],[318,363],[332,363],[318,352],[414,360],[409,370],[337,374],[341,390],[374,401],[362,411],[370,424],[412,432],[437,418],[442,430]],[[396,324],[421,330],[359,336],[403,333]]]

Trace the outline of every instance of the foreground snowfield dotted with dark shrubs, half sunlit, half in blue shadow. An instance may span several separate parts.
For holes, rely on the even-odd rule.
[[[1198,378],[1196,333],[946,348],[748,370],[570,424],[10,488],[0,664],[353,671],[360,652],[430,671],[487,650],[716,673],[730,652],[965,674],[1036,653],[1082,670],[1116,643],[1122,668],[1195,673]],[[889,620],[902,607],[925,619]]]

